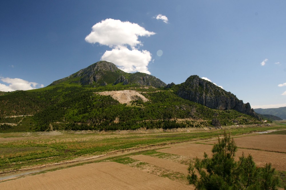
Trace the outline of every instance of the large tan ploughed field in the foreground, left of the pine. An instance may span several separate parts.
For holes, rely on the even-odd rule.
[[[92,163],[4,181],[0,189],[189,189],[116,162]]]

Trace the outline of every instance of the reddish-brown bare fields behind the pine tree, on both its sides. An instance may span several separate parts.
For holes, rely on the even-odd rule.
[[[234,138],[236,145],[239,147],[235,158],[238,158],[244,152],[245,156],[251,154],[253,160],[259,167],[271,162],[277,170],[286,171],[286,136],[285,135],[253,135],[240,138]],[[209,156],[212,155],[212,145],[217,140],[204,142],[207,144],[187,144],[173,146],[166,149],[158,150],[163,153],[183,155],[190,158],[203,158],[204,152]]]

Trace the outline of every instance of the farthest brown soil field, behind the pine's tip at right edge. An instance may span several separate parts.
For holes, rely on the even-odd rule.
[[[285,135],[254,135],[247,137],[234,138],[234,141],[238,147],[260,149],[268,151],[277,151],[286,153],[286,137]],[[208,141],[208,144],[214,144],[215,141]]]

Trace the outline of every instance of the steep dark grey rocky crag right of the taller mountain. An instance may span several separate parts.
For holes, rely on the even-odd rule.
[[[190,76],[185,82],[178,85],[176,94],[181,98],[202,104],[208,108],[218,110],[236,110],[243,114],[260,119],[249,103],[244,104],[231,92],[227,92],[219,86],[200,78],[197,75]]]

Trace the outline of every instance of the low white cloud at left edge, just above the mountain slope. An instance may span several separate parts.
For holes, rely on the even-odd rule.
[[[36,82],[29,82],[21,78],[1,77],[0,80],[2,82],[9,84],[9,85],[5,85],[5,84],[0,83],[0,91],[4,91],[4,92],[15,91],[15,90],[32,90],[32,89],[44,87],[43,84],[38,84]]]

